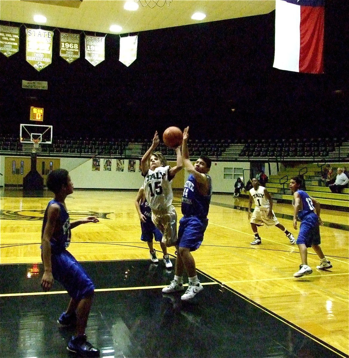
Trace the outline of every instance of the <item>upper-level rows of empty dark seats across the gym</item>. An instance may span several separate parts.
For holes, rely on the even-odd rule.
[[[151,145],[151,140],[115,138],[59,138],[54,137],[52,144],[40,143],[38,152],[47,155],[95,156],[140,158]],[[189,139],[190,155],[207,155],[216,160],[288,160],[292,158],[326,159],[347,158],[349,139],[254,139],[254,140],[198,140]],[[0,136],[0,153],[27,154],[32,144],[23,144],[16,136]],[[159,151],[169,158],[175,158],[173,149],[163,143]]]

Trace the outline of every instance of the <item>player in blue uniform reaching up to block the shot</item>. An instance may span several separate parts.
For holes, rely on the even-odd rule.
[[[212,194],[211,177],[207,174],[211,168],[211,160],[205,156],[197,159],[193,165],[188,152],[189,127],[183,131],[182,158],[183,165],[189,172],[182,196],[182,214],[178,229],[177,259],[174,279],[169,286],[164,287],[162,292],[172,293],[183,291],[182,276],[187,272],[189,285],[183,301],[192,299],[203,287],[197,279],[195,260],[191,251],[197,250],[206,230],[209,206]]]

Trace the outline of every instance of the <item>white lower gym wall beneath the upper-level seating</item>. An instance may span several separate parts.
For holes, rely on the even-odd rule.
[[[11,160],[14,157],[6,157]],[[23,157],[26,158],[26,157]],[[18,159],[18,157],[16,158]],[[27,158],[28,159],[28,158]],[[43,158],[38,158],[41,163]],[[58,165],[67,169],[75,188],[83,189],[134,189],[137,190],[143,184],[143,177],[139,173],[139,160],[136,160],[135,172],[128,171],[128,160],[125,160],[124,171],[116,171],[116,159],[111,159],[111,171],[103,170],[103,158],[100,160],[100,171],[92,171],[92,159],[82,158],[50,158],[54,161],[54,168]],[[60,164],[58,164],[58,160]],[[57,164],[56,164],[57,163]],[[175,165],[169,162],[169,165]],[[249,169],[249,162],[212,162],[210,175],[212,177],[214,192],[231,193],[234,190],[236,177],[243,177],[243,169]],[[0,173],[5,173],[5,156],[0,156]],[[40,171],[39,171],[40,173]],[[245,172],[248,174],[248,171]],[[245,174],[246,175],[246,174]],[[179,172],[173,180],[174,189],[182,189],[188,177],[186,171]],[[0,176],[1,185],[11,184],[6,176]]]

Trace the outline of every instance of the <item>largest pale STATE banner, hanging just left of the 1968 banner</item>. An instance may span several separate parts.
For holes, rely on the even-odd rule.
[[[37,69],[37,71],[41,71],[52,62],[53,31],[26,29],[26,33],[26,60]]]

